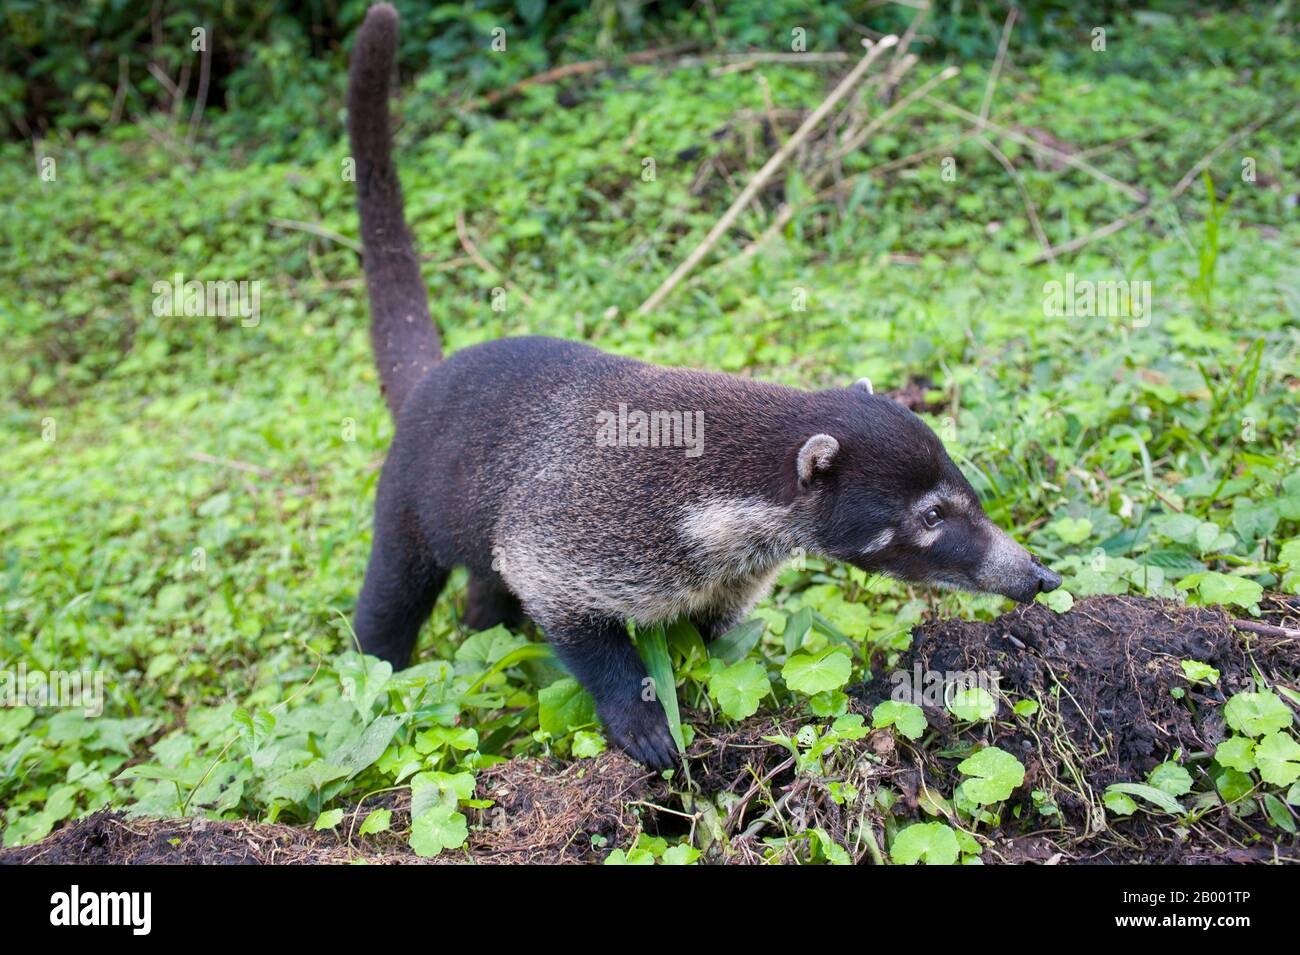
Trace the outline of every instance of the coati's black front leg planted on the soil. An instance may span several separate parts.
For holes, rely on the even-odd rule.
[[[624,622],[595,615],[538,622],[560,663],[595,698],[610,741],[651,769],[675,767],[668,717]]]

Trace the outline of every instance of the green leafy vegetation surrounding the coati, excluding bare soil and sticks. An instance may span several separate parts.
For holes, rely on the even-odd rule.
[[[153,17],[147,5],[22,0],[0,13],[0,661],[108,674],[103,719],[0,711],[6,843],[109,803],[311,822],[416,777],[443,794],[447,835],[462,774],[601,746],[589,713],[550,689],[545,661],[508,656],[521,635],[467,638],[459,578],[426,628],[421,668],[390,680],[343,652],[391,437],[341,174],[342,70],[364,6],[160,4]],[[933,148],[930,160],[815,199],[801,156],[649,316],[637,305],[845,66],[715,74],[716,62],[623,56],[788,49],[793,26],[809,51],[857,51],[864,30],[902,32],[913,10],[398,6],[399,165],[448,351],[545,333],[807,387],[919,382],[991,515],[1070,592],[1227,599],[1239,613],[1258,587],[1300,592],[1294,5],[1027,5],[989,117],[1156,200],[1076,255],[1032,264],[1026,197],[1056,246],[1139,203],[994,136],[1018,183],[962,138],[968,123],[919,100],[836,175]],[[937,3],[900,95],[953,64],[959,77],[935,95],[979,113],[1004,9]],[[212,25],[212,83],[191,136],[199,23]],[[1089,47],[1098,23],[1104,53]],[[494,26],[507,29],[504,55],[486,51]],[[481,99],[594,57],[608,69],[494,107]],[[170,82],[188,64],[183,99],[150,62]],[[878,94],[857,108],[883,112]],[[774,108],[793,112],[774,126]],[[1160,201],[1256,122],[1208,161],[1209,187],[1197,177]],[[790,222],[742,256],[783,201],[798,209]],[[491,308],[502,273],[468,260],[458,214],[530,305],[512,292],[504,312]],[[1150,324],[1045,317],[1044,283],[1066,272],[1150,279]],[[260,281],[260,321],[155,314],[153,285],[176,273]],[[764,706],[809,704],[814,719],[842,712],[842,694],[814,704],[779,677],[794,652],[831,646],[812,629],[788,647],[803,608],[849,637],[862,678],[924,613],[987,617],[1005,602],[816,561],[786,573],[746,665],[771,676]],[[675,663],[682,702],[712,706],[707,673]],[[400,719],[378,722],[390,717]],[[374,726],[389,732],[378,752],[333,774]]]

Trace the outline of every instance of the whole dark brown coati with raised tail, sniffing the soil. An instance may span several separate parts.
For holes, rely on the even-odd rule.
[[[347,100],[372,343],[396,417],[356,607],[367,654],[407,665],[464,565],[465,624],[530,617],[610,739],[662,769],[676,746],[642,698],[628,621],[688,615],[718,637],[798,548],[1015,600],[1060,585],[989,521],[935,433],[870,386],[800,391],[551,338],[442,359],[391,156],[396,32],[391,6],[369,9]]]

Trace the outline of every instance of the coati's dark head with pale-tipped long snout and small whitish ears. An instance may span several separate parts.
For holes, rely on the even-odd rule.
[[[801,489],[818,499],[828,555],[906,581],[1027,603],[1061,577],[989,520],[942,442],[889,399],[857,395],[863,422],[801,448]]]

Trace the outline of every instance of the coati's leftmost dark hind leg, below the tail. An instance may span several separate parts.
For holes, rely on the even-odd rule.
[[[394,669],[411,663],[420,628],[447,582],[447,569],[406,534],[376,529],[365,582],[356,600],[356,638],[361,652],[387,660]]]

